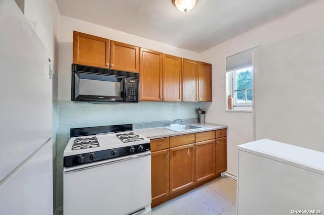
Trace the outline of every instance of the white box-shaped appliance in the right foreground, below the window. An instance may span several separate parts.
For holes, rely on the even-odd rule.
[[[323,202],[323,152],[268,139],[238,146],[238,215],[322,214]]]

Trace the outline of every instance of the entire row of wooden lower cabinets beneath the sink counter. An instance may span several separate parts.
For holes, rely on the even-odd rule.
[[[154,139],[151,151],[155,207],[226,171],[226,129]]]

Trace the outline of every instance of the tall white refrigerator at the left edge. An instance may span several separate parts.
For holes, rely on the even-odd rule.
[[[53,214],[49,54],[14,1],[0,29],[0,214]]]

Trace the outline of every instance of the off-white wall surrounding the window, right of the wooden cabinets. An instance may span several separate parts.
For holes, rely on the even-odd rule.
[[[324,26],[324,1],[314,2],[265,25],[240,34],[200,54],[213,64],[213,102],[206,121],[228,126],[227,168],[237,175],[237,145],[253,141],[253,114],[225,112],[225,58],[256,45],[267,45]]]

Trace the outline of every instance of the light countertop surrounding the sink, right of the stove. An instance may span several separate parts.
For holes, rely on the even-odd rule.
[[[156,138],[171,137],[171,136],[177,136],[182,134],[192,134],[197,132],[212,131],[212,130],[227,128],[227,126],[224,125],[217,125],[217,124],[210,124],[210,123],[191,123],[189,125],[200,126],[203,128],[186,130],[186,131],[171,131],[165,129],[164,127],[159,127],[159,128],[136,129],[134,131],[149,139],[156,139]]]

